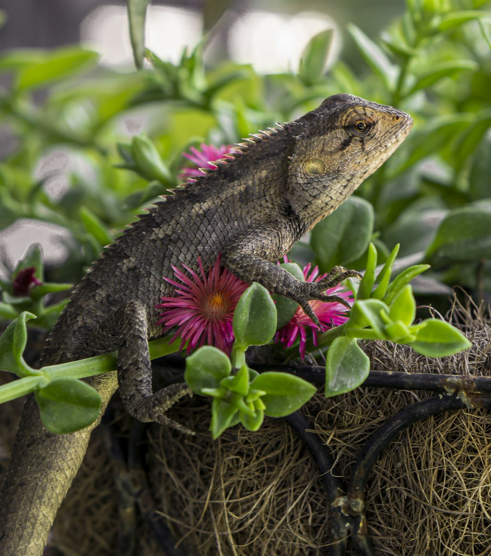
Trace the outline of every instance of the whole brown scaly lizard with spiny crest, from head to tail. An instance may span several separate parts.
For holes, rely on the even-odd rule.
[[[132,223],[72,293],[41,354],[57,364],[117,349],[117,370],[87,379],[101,415],[119,388],[137,419],[186,431],[165,410],[189,393],[173,384],[153,393],[148,341],[162,335],[156,305],[173,295],[171,268],[221,264],[239,279],[290,297],[314,321],[310,300],[350,271],[320,282],[296,280],[275,264],[396,150],[413,120],[396,108],[346,93],[297,120],[238,143],[234,154],[195,182],[169,192]],[[336,276],[337,275],[337,276]],[[85,454],[96,422],[55,435],[28,397],[0,497],[0,553],[40,556],[53,520]]]

